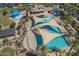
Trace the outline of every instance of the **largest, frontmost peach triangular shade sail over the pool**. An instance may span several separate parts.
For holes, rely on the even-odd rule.
[[[63,34],[52,34],[52,33],[49,33],[49,32],[47,32],[47,31],[45,31],[45,30],[43,30],[43,29],[40,29],[40,28],[37,28],[39,31],[40,31],[40,33],[41,33],[41,35],[42,35],[42,37],[43,37],[43,44],[47,44],[51,39],[54,39],[54,38],[56,38],[56,37],[58,37],[58,36],[61,36],[61,35],[63,35]]]

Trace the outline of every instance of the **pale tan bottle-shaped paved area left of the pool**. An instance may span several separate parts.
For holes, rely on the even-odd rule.
[[[29,19],[28,22],[26,22],[26,29],[27,33],[23,41],[23,46],[29,51],[30,49],[36,50],[37,43],[36,43],[36,37],[34,33],[30,30],[32,26],[32,21]]]

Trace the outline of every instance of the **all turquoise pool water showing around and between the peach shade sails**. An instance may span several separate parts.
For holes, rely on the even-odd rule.
[[[43,17],[43,16],[41,16]],[[50,16],[46,17],[46,19],[44,21],[38,22],[36,25],[43,25],[44,23],[47,23],[49,21],[53,20]],[[55,26],[49,26],[49,25],[45,25],[43,26],[45,29],[47,29],[48,32],[52,33],[52,34],[63,34],[60,29],[58,27]],[[43,38],[41,35],[36,35],[36,39],[37,39],[37,44],[38,45],[42,45],[43,44]],[[51,41],[49,41],[46,44],[46,47],[48,49],[61,49],[61,48],[66,48],[69,47],[69,42],[68,39],[62,35],[59,37],[56,37],[54,39],[51,39]]]

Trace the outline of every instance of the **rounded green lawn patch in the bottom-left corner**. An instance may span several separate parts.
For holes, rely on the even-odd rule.
[[[2,51],[0,51],[1,56],[13,56],[14,50],[10,47],[5,47]]]

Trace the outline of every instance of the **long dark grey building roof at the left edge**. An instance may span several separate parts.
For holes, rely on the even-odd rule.
[[[0,37],[14,36],[14,35],[15,35],[15,28],[8,28],[8,29],[0,30]]]

